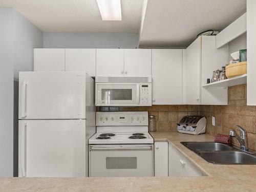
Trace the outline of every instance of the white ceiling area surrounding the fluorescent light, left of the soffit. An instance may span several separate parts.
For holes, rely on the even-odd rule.
[[[0,0],[43,32],[138,33],[143,0],[121,0],[122,20],[102,21],[96,0]]]

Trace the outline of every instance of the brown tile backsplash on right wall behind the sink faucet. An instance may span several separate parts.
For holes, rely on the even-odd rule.
[[[228,88],[228,105],[200,105],[200,115],[207,119],[206,133],[210,135],[228,135],[229,130],[235,129],[240,135],[236,125],[247,131],[248,145],[256,150],[256,106],[246,105],[246,84]],[[211,125],[211,116],[216,117],[216,126]],[[239,144],[236,138],[233,143]]]

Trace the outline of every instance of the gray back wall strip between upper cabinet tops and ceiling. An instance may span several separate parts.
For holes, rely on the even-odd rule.
[[[44,48],[136,48],[138,33],[44,33]]]

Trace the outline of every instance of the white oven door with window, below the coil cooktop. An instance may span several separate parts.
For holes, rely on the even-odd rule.
[[[153,145],[90,145],[90,177],[153,177]]]

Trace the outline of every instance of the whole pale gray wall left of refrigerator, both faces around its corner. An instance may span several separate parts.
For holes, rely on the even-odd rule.
[[[13,140],[13,136],[17,136],[13,132],[17,130],[13,127],[17,125],[17,119],[13,118],[17,106],[13,104],[13,80],[14,76],[18,77],[18,71],[33,70],[33,48],[42,47],[43,35],[11,8],[0,8],[0,26],[0,177],[12,177],[17,172],[17,142]]]

